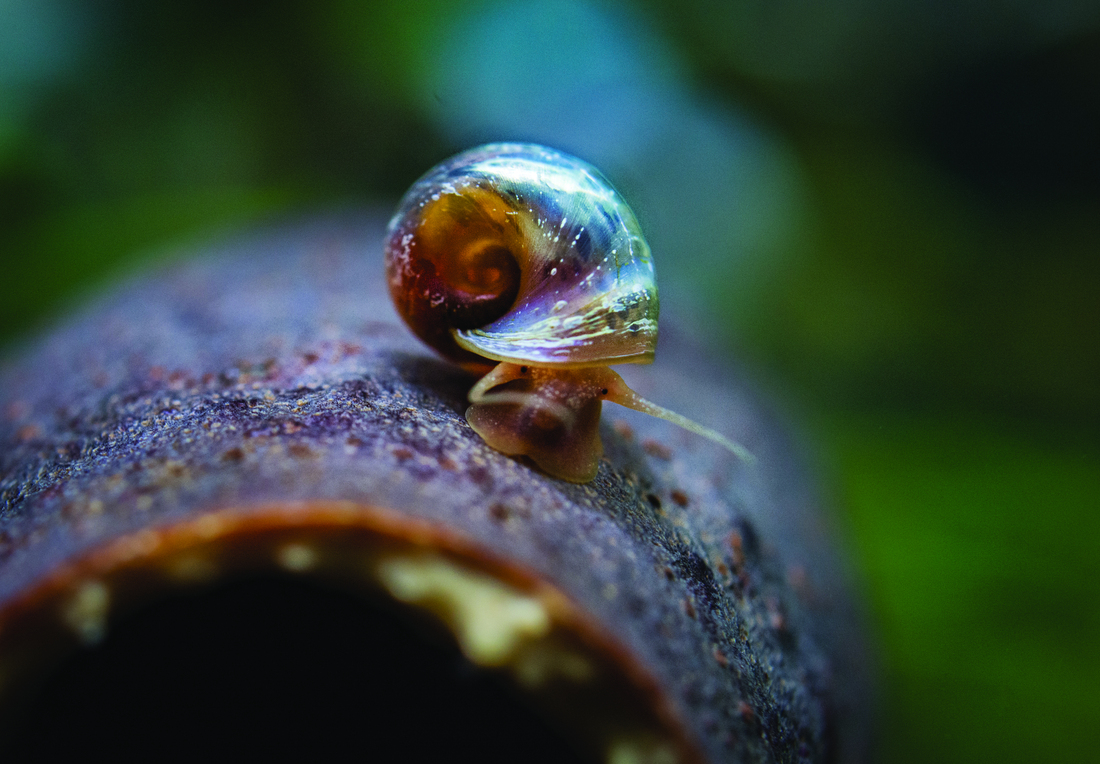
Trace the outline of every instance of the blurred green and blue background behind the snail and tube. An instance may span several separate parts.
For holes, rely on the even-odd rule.
[[[1100,729],[1100,4],[0,0],[0,344],[176,243],[534,140],[825,464],[881,760]]]

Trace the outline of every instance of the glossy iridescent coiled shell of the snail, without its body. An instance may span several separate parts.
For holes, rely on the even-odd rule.
[[[385,250],[406,323],[459,362],[653,359],[649,245],[610,182],[581,159],[525,143],[459,154],[405,195]]]

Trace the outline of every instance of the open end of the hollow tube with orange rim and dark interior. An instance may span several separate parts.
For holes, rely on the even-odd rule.
[[[185,757],[693,757],[640,669],[560,591],[382,508],[238,509],[142,531],[0,624],[6,761],[145,757],[165,741]]]

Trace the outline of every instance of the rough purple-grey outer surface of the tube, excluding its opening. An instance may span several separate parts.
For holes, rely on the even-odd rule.
[[[860,761],[868,674],[826,518],[790,442],[662,321],[647,398],[578,486],[484,445],[472,379],[385,295],[383,221],[242,236],[99,301],[0,376],[0,620],[66,561],[215,509],[385,507],[563,591],[660,686],[711,761]],[[667,307],[666,313],[668,314]]]

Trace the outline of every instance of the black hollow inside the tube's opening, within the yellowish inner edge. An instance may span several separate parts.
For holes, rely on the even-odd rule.
[[[21,717],[6,762],[585,761],[426,617],[276,574],[112,621]]]

